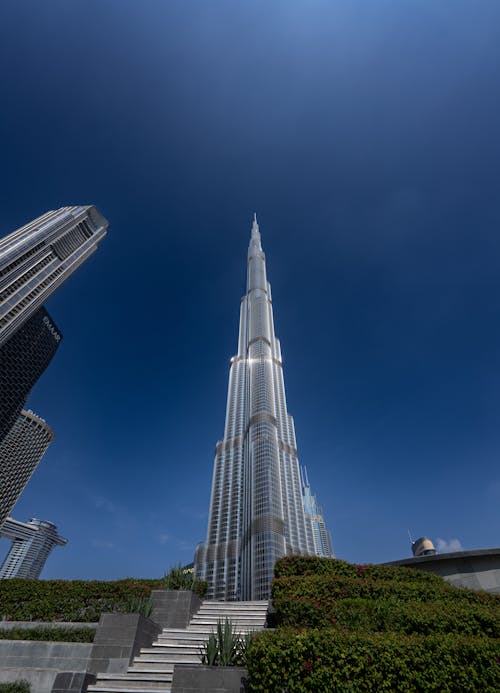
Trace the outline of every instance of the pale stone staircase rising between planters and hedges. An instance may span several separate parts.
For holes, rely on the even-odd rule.
[[[204,601],[185,629],[165,628],[151,647],[143,647],[127,673],[98,674],[88,687],[95,693],[170,693],[175,664],[201,664],[200,648],[219,620],[230,619],[238,633],[262,630],[267,601]]]

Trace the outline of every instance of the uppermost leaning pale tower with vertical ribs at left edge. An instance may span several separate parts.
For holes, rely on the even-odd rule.
[[[95,207],[62,207],[0,239],[0,346],[96,251],[107,227]]]

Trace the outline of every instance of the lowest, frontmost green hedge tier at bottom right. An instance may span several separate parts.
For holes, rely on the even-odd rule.
[[[263,633],[250,643],[250,693],[500,690],[498,641],[338,629]]]

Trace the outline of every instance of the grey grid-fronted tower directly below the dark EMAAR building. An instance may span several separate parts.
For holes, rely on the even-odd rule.
[[[53,438],[43,419],[23,409],[0,442],[0,528]]]

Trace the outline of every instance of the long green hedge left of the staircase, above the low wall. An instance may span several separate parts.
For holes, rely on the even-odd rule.
[[[0,580],[0,618],[9,621],[98,621],[123,611],[132,598],[149,597],[162,580]]]

